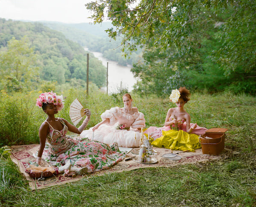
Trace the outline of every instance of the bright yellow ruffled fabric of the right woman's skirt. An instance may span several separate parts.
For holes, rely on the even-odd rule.
[[[199,143],[199,136],[192,133],[187,133],[183,130],[169,130],[163,131],[163,136],[154,140],[151,145],[154,147],[165,147],[172,150],[189,150],[195,151],[195,149],[201,148]]]

